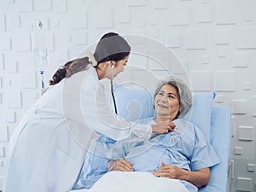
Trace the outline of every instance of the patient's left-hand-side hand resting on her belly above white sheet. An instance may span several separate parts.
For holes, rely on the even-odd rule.
[[[132,164],[124,159],[110,160],[108,171],[133,172]]]

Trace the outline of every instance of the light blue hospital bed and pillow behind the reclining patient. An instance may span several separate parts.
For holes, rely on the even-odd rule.
[[[125,119],[136,121],[154,115],[153,98],[148,90],[125,86],[114,88],[117,111]],[[193,108],[183,118],[195,123],[212,143],[220,163],[211,168],[211,178],[200,192],[228,192],[231,146],[230,108],[213,106],[214,92],[193,94]],[[111,102],[113,107],[113,102]],[[100,181],[100,180],[99,180]],[[88,189],[76,190],[87,192]]]

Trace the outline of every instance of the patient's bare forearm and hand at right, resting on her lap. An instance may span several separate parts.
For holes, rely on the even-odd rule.
[[[168,166],[164,162],[162,162],[162,167],[160,167],[158,170],[155,170],[153,174],[159,177],[185,180],[194,184],[197,188],[206,186],[210,179],[209,168],[203,168],[196,170],[195,172],[190,172],[177,166]]]

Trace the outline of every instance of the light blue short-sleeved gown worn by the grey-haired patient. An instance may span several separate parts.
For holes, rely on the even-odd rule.
[[[141,124],[154,125],[152,118]],[[133,164],[135,172],[154,172],[161,162],[189,171],[215,166],[218,156],[205,136],[195,125],[184,119],[176,119],[176,131],[168,134],[153,134],[149,142],[120,143],[108,137],[99,137],[91,145],[84,160],[77,183],[73,189],[90,188],[108,172],[108,161],[124,158]],[[180,180],[189,192],[196,192],[195,185]]]

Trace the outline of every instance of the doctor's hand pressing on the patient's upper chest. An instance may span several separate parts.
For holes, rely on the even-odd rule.
[[[171,119],[166,121],[158,122],[157,125],[151,125],[152,132],[154,133],[168,133],[175,130],[176,125],[172,122]]]

